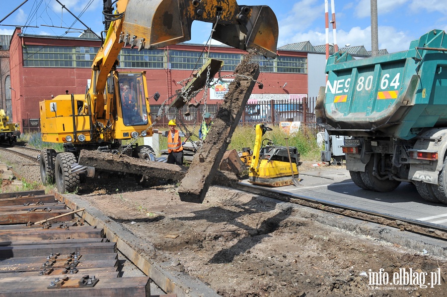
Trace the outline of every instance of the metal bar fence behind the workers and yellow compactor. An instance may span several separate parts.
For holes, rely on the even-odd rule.
[[[268,126],[279,126],[284,122],[300,122],[301,129],[306,129],[316,137],[316,134],[324,132],[324,129],[316,123],[315,103],[316,97],[256,102],[250,100],[242,112],[239,125],[255,126],[263,123]],[[164,106],[160,111],[161,105],[151,105],[150,115],[155,119],[157,114],[163,113],[164,117],[156,123],[157,126],[167,126],[171,119],[176,119],[180,124],[200,125],[204,113],[210,113],[211,118],[215,119],[220,107],[221,104],[200,105],[198,108],[184,106],[175,111]]]

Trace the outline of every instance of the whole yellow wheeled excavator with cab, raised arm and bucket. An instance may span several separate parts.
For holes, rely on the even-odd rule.
[[[124,46],[151,50],[188,41],[192,22],[199,20],[214,23],[213,38],[226,45],[276,57],[278,22],[265,5],[238,5],[235,0],[104,0],[103,14],[107,34],[93,60],[86,93],[67,92],[40,102],[42,140],[64,147],[60,153],[41,151],[40,174],[42,182],[56,182],[61,193],[73,192],[81,180],[98,174],[94,167],[77,164],[81,149],[151,158],[150,146],[122,145],[123,140],[151,136],[153,123],[145,71],[117,71],[117,58]],[[221,67],[223,62],[215,64]],[[219,69],[213,69],[212,75]],[[185,89],[191,93],[207,83],[199,82],[191,81]],[[157,100],[159,94],[153,96]],[[183,98],[177,101],[183,102]],[[136,178],[143,185],[150,182],[150,177]]]

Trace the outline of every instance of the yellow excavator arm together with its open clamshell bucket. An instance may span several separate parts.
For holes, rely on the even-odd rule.
[[[226,45],[276,57],[278,21],[269,6],[239,6],[235,0],[118,0],[111,11],[111,0],[104,0],[108,31],[93,60],[87,94],[95,119],[111,117],[104,112],[104,88],[121,48],[156,49],[188,41],[194,20],[215,23],[213,38]]]

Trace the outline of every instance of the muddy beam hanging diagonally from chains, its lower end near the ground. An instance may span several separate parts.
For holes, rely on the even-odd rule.
[[[178,189],[182,201],[202,203],[205,198],[242,115],[242,107],[247,103],[259,76],[259,65],[250,63],[253,55],[246,55],[234,71],[236,78],[228,86],[224,104],[219,109],[201,150],[195,155],[182,179]]]

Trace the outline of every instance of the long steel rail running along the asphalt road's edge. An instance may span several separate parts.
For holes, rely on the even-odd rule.
[[[376,216],[376,217],[385,218],[385,219],[392,220],[392,221],[401,221],[401,222],[405,222],[405,223],[408,223],[411,225],[417,225],[417,226],[424,227],[424,228],[436,229],[436,230],[439,230],[442,232],[447,232],[446,226],[433,224],[433,223],[429,223],[429,222],[423,222],[423,221],[419,221],[419,220],[412,220],[412,219],[403,218],[403,217],[399,217],[399,216],[393,216],[390,214],[384,214],[384,213],[380,213],[380,212],[376,212],[376,211],[367,210],[364,208],[352,207],[352,206],[349,206],[346,204],[330,202],[330,201],[323,200],[323,199],[312,198],[312,197],[308,197],[308,196],[304,196],[304,195],[298,195],[298,194],[281,191],[281,190],[276,190],[276,189],[272,189],[272,188],[266,188],[266,187],[262,187],[259,185],[238,182],[237,185],[235,186],[235,188],[238,190],[252,193],[252,194],[263,195],[263,196],[271,197],[271,198],[286,201],[286,202],[296,203],[296,202],[292,201],[291,199],[304,200],[304,201],[311,202],[311,203],[318,203],[321,205],[331,206],[331,207],[339,208],[339,209],[343,209],[343,210],[351,210],[351,211],[355,211],[355,212],[359,212],[359,213],[364,213],[364,214],[368,214],[368,215],[372,215],[372,216]],[[299,203],[296,203],[296,204],[299,204]],[[306,206],[308,206],[308,205],[306,205]],[[315,208],[317,208],[317,207],[315,207]],[[321,210],[321,208],[317,208],[317,209]],[[330,210],[324,210],[324,211],[330,211]],[[340,213],[337,212],[337,214],[340,214]],[[355,217],[355,216],[350,216],[347,214],[342,214],[342,215],[348,216],[348,217]],[[365,219],[363,219],[363,220],[365,220]],[[383,223],[380,223],[380,224],[383,225]],[[411,230],[407,230],[407,231],[411,232]],[[426,234],[426,233],[423,233],[423,234],[439,238],[436,235],[430,235],[430,234]]]

